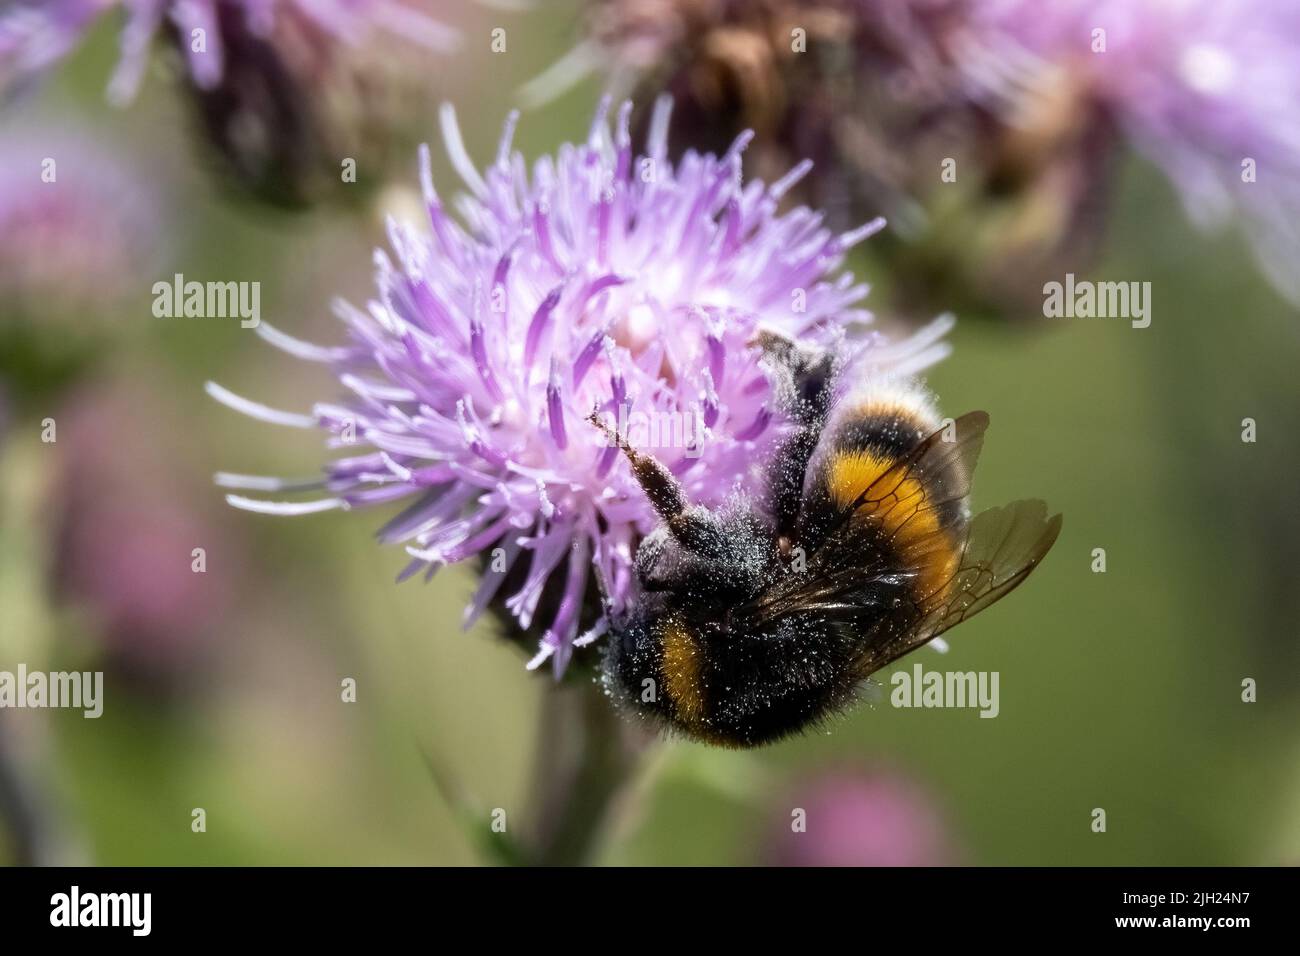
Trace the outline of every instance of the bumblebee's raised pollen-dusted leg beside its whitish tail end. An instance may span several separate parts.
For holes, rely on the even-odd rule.
[[[751,345],[763,350],[774,390],[796,425],[774,450],[767,473],[768,507],[784,553],[800,516],[803,475],[831,408],[836,364],[829,351],[801,346],[774,332],[758,333]]]

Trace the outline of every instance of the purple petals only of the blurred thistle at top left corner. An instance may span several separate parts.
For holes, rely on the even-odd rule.
[[[370,36],[402,38],[430,49],[448,49],[456,33],[425,12],[425,0],[17,0],[0,12],[0,88],[34,78],[77,47],[95,21],[121,8],[126,23],[121,60],[109,96],[125,103],[135,96],[148,65],[150,44],[165,26],[183,39],[194,83],[211,90],[226,69],[222,20],[238,14],[256,35],[270,36],[277,21],[311,22],[339,43]],[[203,31],[195,49],[194,31]]]

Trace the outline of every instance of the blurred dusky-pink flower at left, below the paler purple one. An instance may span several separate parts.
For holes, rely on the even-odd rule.
[[[176,468],[183,427],[155,394],[117,382],[74,393],[57,421],[55,592],[87,614],[113,663],[155,678],[191,671],[229,613],[238,561],[230,531]]]

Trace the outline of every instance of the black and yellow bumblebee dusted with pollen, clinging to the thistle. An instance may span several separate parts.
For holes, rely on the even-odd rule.
[[[987,414],[940,419],[913,381],[842,389],[829,354],[755,345],[793,424],[760,496],[692,505],[592,416],[660,518],[637,549],[640,594],[611,626],[606,689],[734,748],[844,710],[872,672],[1017,588],[1061,531],[1041,501],[971,516]]]

